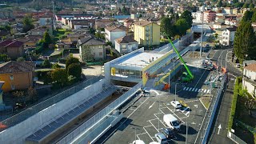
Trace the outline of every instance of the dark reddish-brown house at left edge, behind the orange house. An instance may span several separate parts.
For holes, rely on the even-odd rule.
[[[24,43],[16,40],[0,42],[0,54],[7,54],[11,59],[16,60],[24,56]]]

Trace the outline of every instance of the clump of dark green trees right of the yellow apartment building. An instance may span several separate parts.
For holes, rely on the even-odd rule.
[[[192,26],[192,20],[191,12],[185,10],[179,18],[177,14],[163,17],[161,19],[160,29],[162,33],[166,33],[169,37],[174,37],[175,35],[182,36]]]

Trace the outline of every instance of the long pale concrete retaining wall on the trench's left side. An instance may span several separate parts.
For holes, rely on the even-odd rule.
[[[18,125],[3,130],[0,133],[0,143],[25,143],[26,137],[52,122],[54,118],[62,115],[64,111],[70,110],[70,108],[84,102],[87,98],[91,98],[95,94],[100,93],[103,84],[108,86],[110,81],[106,81],[104,78],[94,83],[94,85],[87,86],[85,89],[78,91],[78,93],[40,111],[38,114],[34,114],[25,121],[18,123]]]

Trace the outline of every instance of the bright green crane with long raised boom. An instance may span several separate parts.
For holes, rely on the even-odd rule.
[[[184,60],[182,59],[182,56],[178,53],[178,50],[175,48],[174,43],[170,40],[167,34],[166,34],[166,37],[168,38],[170,45],[174,48],[174,51],[178,55],[178,58],[182,61],[183,65],[186,68],[187,73],[186,72],[182,73],[182,81],[190,82],[194,78],[194,75],[191,73],[190,69],[186,66],[186,62],[184,62]]]

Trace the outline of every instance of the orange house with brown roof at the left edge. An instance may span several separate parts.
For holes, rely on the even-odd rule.
[[[9,92],[33,87],[34,67],[33,62],[10,61],[0,64],[0,81],[5,82],[2,90]]]

